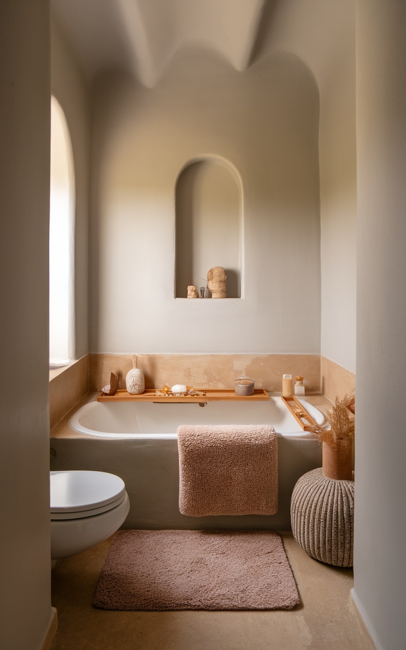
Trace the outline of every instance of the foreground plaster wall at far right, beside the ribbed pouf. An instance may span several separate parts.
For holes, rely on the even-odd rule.
[[[406,645],[406,4],[357,2],[354,595],[379,649]]]

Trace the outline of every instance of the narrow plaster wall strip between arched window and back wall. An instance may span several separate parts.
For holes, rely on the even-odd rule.
[[[90,91],[51,14],[51,92],[64,110],[75,168],[75,341],[73,358],[88,352],[88,185]]]

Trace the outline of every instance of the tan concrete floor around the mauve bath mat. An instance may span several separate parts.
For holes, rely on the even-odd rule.
[[[53,570],[51,650],[371,650],[351,606],[351,569],[310,558],[283,533],[301,604],[290,612],[109,612],[92,608],[109,540]]]

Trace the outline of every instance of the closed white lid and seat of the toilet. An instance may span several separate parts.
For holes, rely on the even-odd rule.
[[[118,502],[125,495],[120,476],[107,472],[51,472],[51,512],[83,512]]]

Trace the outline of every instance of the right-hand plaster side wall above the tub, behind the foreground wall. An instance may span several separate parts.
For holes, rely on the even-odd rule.
[[[324,357],[355,372],[357,157],[355,5],[347,3],[342,47],[320,87],[320,224]]]

